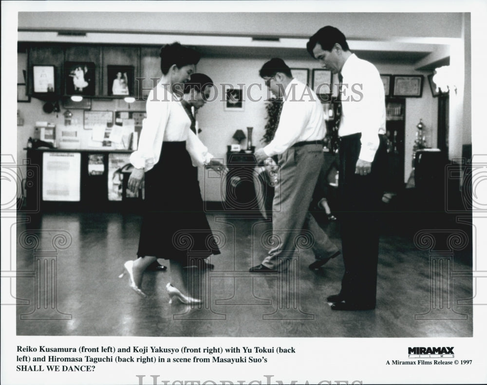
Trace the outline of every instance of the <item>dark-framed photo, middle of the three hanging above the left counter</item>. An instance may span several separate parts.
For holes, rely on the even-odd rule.
[[[93,62],[67,61],[64,63],[66,95],[95,94],[95,65]]]

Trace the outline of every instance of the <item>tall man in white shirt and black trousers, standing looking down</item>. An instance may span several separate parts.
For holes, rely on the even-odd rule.
[[[341,83],[338,195],[345,274],[340,293],[327,300],[334,302],[332,310],[375,309],[376,214],[387,162],[384,87],[375,66],[350,52],[337,28],[321,28],[310,37],[306,48],[323,68],[338,73]]]

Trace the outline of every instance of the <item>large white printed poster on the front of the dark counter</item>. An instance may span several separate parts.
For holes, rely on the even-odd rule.
[[[44,152],[42,156],[42,199],[79,202],[81,154]]]

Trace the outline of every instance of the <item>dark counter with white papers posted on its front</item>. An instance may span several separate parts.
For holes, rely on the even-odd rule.
[[[27,209],[32,212],[140,212],[142,193],[132,197],[126,191],[130,153],[129,150],[28,148]]]

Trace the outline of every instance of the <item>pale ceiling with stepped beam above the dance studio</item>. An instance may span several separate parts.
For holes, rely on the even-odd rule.
[[[323,20],[334,20],[350,48],[375,63],[416,70],[449,64],[461,39],[461,13],[19,13],[19,41],[162,45],[174,40],[206,57],[311,60],[305,46]],[[182,22],[199,20],[199,22]],[[341,27],[343,25],[343,27]],[[62,32],[60,36],[58,32]]]

